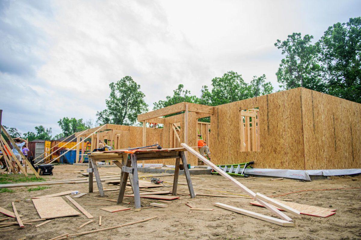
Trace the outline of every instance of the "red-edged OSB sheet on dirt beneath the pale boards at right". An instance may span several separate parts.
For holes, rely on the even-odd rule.
[[[279,202],[282,203],[283,201],[279,201]],[[259,207],[263,207],[263,205],[261,205],[257,201],[253,201],[250,204],[259,206]],[[330,217],[330,216],[336,214],[336,212],[335,212],[336,209],[331,209],[331,208],[322,208],[322,207],[305,205],[305,204],[300,204],[300,203],[295,203],[295,202],[287,202],[287,205],[288,205],[288,207],[297,209],[298,211],[300,211],[301,214],[308,215],[308,216]],[[280,209],[280,208],[278,208],[278,210],[283,211],[283,209]]]

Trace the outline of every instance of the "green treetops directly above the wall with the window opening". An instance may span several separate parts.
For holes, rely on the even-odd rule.
[[[270,94],[273,91],[273,87],[265,79],[266,76],[264,74],[261,77],[254,76],[251,83],[247,84],[240,74],[229,71],[223,74],[222,77],[212,79],[212,91],[209,91],[208,86],[202,87],[200,103],[217,106],[263,94]]]

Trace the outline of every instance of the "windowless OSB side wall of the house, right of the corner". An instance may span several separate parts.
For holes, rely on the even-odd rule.
[[[302,89],[305,169],[361,168],[361,104]]]

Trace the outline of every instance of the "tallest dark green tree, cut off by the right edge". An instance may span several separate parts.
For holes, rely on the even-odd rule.
[[[329,27],[317,45],[327,93],[361,103],[361,17]]]

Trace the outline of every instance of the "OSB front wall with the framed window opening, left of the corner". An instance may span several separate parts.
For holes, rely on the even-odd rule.
[[[304,169],[301,89],[276,92],[215,107],[211,117],[212,161],[254,161],[255,168]],[[260,109],[260,151],[241,152],[240,114]]]

